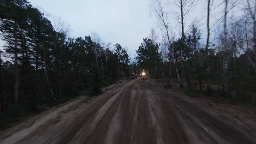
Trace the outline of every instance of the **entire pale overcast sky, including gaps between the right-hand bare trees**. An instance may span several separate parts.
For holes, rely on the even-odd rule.
[[[148,37],[152,27],[157,30],[157,21],[150,15],[149,4],[151,0],[29,0],[34,7],[43,11],[53,22],[54,17],[62,19],[70,25],[70,37],[85,37],[92,32],[99,34],[104,42],[119,43],[127,46],[131,57],[143,38]],[[222,0],[215,0],[212,8],[219,5]],[[197,18],[202,19],[200,25],[203,41],[206,35],[206,0],[199,0],[191,10],[185,23],[185,30]],[[166,5],[168,11],[180,12],[173,4]],[[211,24],[223,15],[223,7],[219,6],[211,12]],[[231,11],[231,14],[233,11]],[[170,15],[168,17],[173,32],[180,35],[180,23]],[[221,22],[221,21],[220,21]],[[218,23],[215,24],[215,28]],[[214,28],[212,28],[213,30]],[[216,35],[211,33],[213,41]],[[3,42],[0,42],[1,49]]]

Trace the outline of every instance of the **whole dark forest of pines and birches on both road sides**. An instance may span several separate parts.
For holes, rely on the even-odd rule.
[[[76,96],[97,96],[102,87],[142,69],[166,88],[177,83],[191,96],[255,105],[256,1],[221,1],[224,9],[216,22],[211,22],[216,1],[204,1],[206,32],[197,20],[186,21],[199,1],[174,1],[172,5],[180,10],[175,16],[168,2],[151,1],[157,28],[143,38],[131,58],[127,47],[105,43],[97,33],[70,37],[62,22],[53,26],[27,0],[0,0],[0,34],[5,42],[0,51],[1,125],[8,118],[16,121]],[[230,17],[235,7],[242,12]],[[178,20],[179,36],[170,18]],[[216,23],[220,28],[213,30]],[[218,32],[214,42],[213,31]]]

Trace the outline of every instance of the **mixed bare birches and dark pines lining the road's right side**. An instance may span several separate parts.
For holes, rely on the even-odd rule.
[[[242,6],[242,3],[223,1],[223,16],[219,19],[222,20],[222,28],[215,30],[218,35],[215,41],[210,40],[212,25],[209,19],[212,3],[210,0],[207,1],[207,37],[204,41],[206,43],[202,43],[202,33],[196,21],[184,30],[184,17],[196,1],[173,2],[176,2],[180,9],[178,21],[181,24],[181,37],[175,38],[171,31],[168,22],[170,16],[167,12],[169,7],[161,0],[153,0],[151,8],[158,19],[161,35],[157,36],[152,29],[150,38],[143,39],[143,43],[136,51],[136,59],[140,66],[147,68],[151,77],[163,79],[166,83],[167,79],[177,78],[180,87],[190,89],[191,93],[217,93],[236,101],[255,104],[256,1],[246,1],[243,5],[244,14],[230,19],[230,9],[237,5]],[[159,38],[160,42],[157,42]]]

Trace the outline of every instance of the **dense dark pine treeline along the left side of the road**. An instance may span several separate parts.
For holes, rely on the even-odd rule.
[[[1,117],[38,112],[81,93],[97,95],[130,74],[120,44],[103,43],[96,34],[71,38],[26,0],[1,0],[0,14]]]

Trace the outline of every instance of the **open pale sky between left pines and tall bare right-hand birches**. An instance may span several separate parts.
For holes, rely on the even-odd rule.
[[[127,46],[134,55],[153,26],[148,0],[30,0],[48,17],[60,17],[69,23],[70,36],[99,34],[104,42]],[[51,19],[51,18],[49,18]]]

